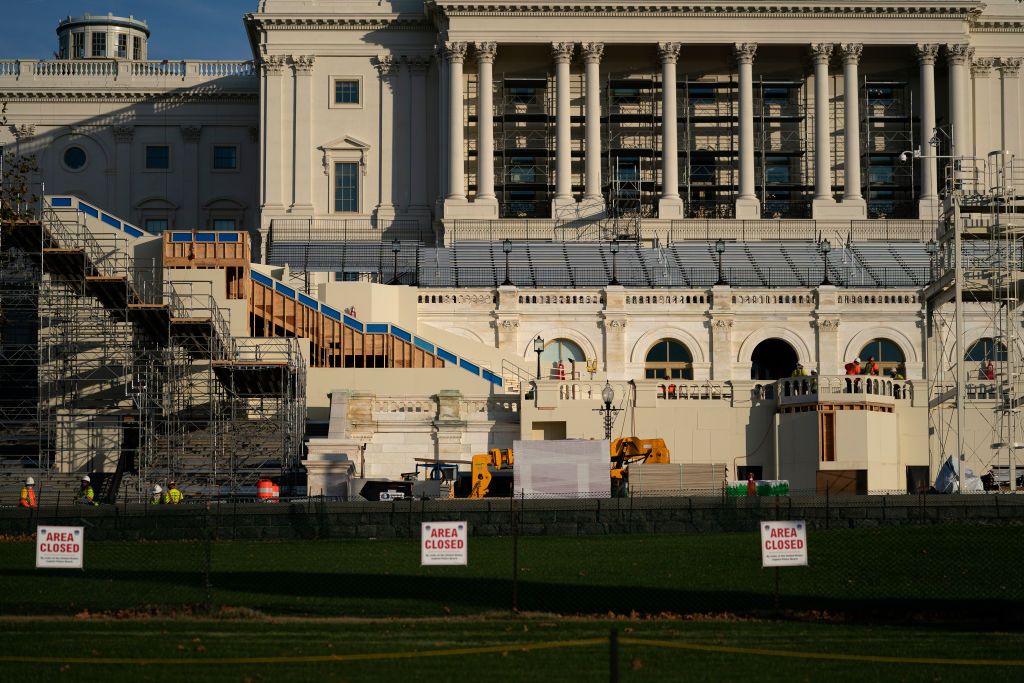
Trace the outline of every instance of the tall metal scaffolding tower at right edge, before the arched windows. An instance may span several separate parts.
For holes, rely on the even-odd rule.
[[[948,161],[926,291],[930,464],[934,473],[951,457],[1014,490],[1024,447],[1024,166],[1007,152]]]

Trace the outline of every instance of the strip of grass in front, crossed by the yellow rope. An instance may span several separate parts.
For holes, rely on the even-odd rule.
[[[339,620],[0,620],[4,680],[36,681],[595,681],[609,671],[607,635],[623,639],[624,681],[1016,680],[1024,634],[935,627],[760,621],[460,617]],[[585,641],[552,649],[542,643]],[[696,649],[634,642],[656,640]],[[485,653],[408,656],[493,647]],[[708,648],[708,649],[701,649]],[[722,648],[742,648],[722,651]],[[743,651],[754,648],[758,652]],[[383,653],[364,660],[332,656]],[[390,656],[403,653],[407,656]],[[778,656],[791,653],[795,656]],[[847,658],[813,658],[841,655]],[[44,663],[16,657],[53,657]],[[75,660],[99,659],[99,663]],[[229,657],[292,657],[239,661]],[[896,657],[878,660],[861,657]],[[925,660],[902,660],[918,658]],[[129,661],[124,661],[128,659]],[[130,660],[136,661],[130,661]],[[138,659],[158,659],[139,663]],[[221,659],[220,663],[211,660]],[[936,661],[958,659],[961,661]],[[999,665],[991,660],[1013,660]],[[977,666],[979,660],[989,660]],[[974,664],[971,664],[974,663]]]

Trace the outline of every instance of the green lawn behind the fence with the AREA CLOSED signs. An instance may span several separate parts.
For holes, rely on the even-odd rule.
[[[1017,616],[1024,529],[932,525],[811,530],[810,566],[784,568],[780,606],[860,614]],[[765,613],[774,571],[754,533],[527,537],[518,607],[562,614]],[[0,544],[0,613],[210,604],[272,615],[445,616],[507,612],[512,543],[470,542],[467,567],[421,567],[416,540],[86,545],[84,571],[37,570],[28,543]]]

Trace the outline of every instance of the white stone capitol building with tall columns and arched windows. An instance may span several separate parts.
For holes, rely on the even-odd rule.
[[[249,59],[154,61],[159,27],[68,17],[59,58],[0,59],[0,145],[234,336],[309,340],[311,488],[341,456],[601,437],[606,382],[613,435],[730,478],[914,490],[957,452],[1011,478],[1020,2],[261,0],[244,28]],[[299,307],[144,247],[187,231],[247,232]],[[303,317],[328,306],[339,346]],[[900,379],[852,390],[858,355]],[[775,383],[797,364],[820,380]]]

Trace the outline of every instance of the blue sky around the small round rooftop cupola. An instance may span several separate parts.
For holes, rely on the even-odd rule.
[[[242,15],[257,0],[0,0],[0,59],[48,58],[57,22],[71,14],[129,14],[150,25],[151,59],[249,59]]]

